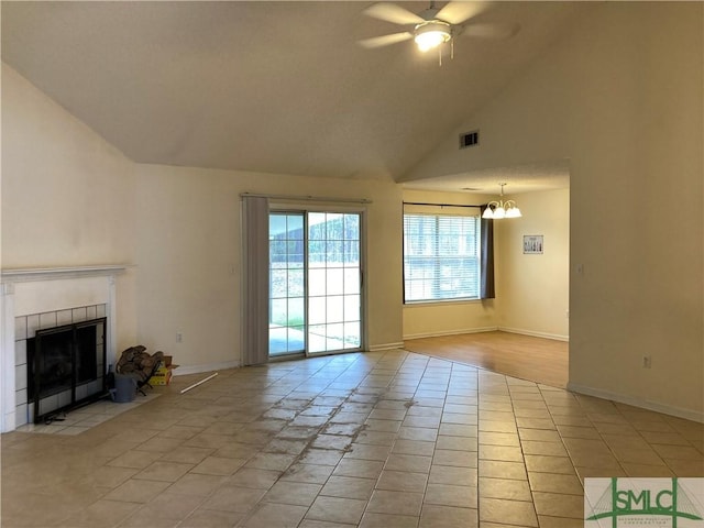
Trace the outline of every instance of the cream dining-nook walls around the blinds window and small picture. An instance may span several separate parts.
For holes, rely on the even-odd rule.
[[[501,329],[566,340],[569,197],[568,189],[514,196],[524,217],[494,222],[496,298],[405,305],[404,338]],[[481,205],[496,198],[469,193],[404,191],[405,201],[429,204]],[[524,234],[543,234],[546,252],[524,255]]]

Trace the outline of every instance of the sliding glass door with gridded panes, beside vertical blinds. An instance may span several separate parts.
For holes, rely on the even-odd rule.
[[[362,348],[361,213],[270,213],[270,356]]]

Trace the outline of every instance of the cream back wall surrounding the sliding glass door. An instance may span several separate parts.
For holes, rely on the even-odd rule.
[[[400,344],[402,215],[395,184],[160,165],[138,165],[136,174],[138,314],[144,345],[173,353],[186,370],[240,363],[241,193],[373,200],[364,206],[371,226],[367,346]]]

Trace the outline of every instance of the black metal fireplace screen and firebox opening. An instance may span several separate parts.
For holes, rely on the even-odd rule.
[[[28,340],[28,395],[34,422],[106,393],[107,318],[37,330]]]

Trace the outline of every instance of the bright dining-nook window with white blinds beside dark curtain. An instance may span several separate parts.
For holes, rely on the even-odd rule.
[[[480,297],[480,216],[404,213],[404,302]]]

